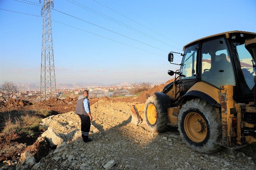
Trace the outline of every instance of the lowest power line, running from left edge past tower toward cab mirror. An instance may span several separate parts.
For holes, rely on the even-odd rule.
[[[52,8],[52,9],[53,9],[53,8]],[[5,9],[0,8],[0,10],[5,10]],[[42,17],[42,16],[38,16],[38,15],[34,15],[34,14],[22,13],[22,12],[11,11],[11,10],[5,10],[5,11],[10,11],[10,12],[14,12],[14,13],[20,13],[20,14],[26,14],[26,15],[31,15],[31,16]],[[58,22],[58,21],[53,20],[53,19],[52,19],[52,21]],[[68,25],[68,24],[64,24],[64,23],[62,23],[62,22],[58,22],[58,23],[63,24],[63,25],[65,25],[65,26],[73,27],[73,26],[70,26],[70,25]],[[95,33],[92,33],[92,32],[86,31],[86,30],[83,30],[83,29],[79,29],[79,28],[77,28],[77,27],[73,27],[73,28],[78,29],[78,30],[82,30],[82,31],[84,31],[84,32],[87,32],[87,33],[90,33],[90,34],[93,34],[93,35],[97,35],[97,36],[102,37],[102,38],[105,38],[105,39],[112,40],[112,41],[114,41],[114,42],[121,43],[121,44],[123,44],[123,45],[127,45],[127,46],[129,46],[129,47],[133,47],[133,48],[136,48],[136,49],[139,49],[139,50],[142,50],[142,51],[146,51],[146,52],[151,53],[151,54],[154,54],[154,55],[158,55],[158,56],[165,57],[165,56],[163,56],[163,55],[159,55],[159,54],[153,53],[153,52],[151,52],[151,51],[143,50],[143,49],[141,49],[141,48],[138,48],[138,47],[135,47],[135,46],[132,46],[132,45],[123,43],[123,42],[119,42],[119,41],[117,41],[117,40],[113,40],[113,39],[111,39],[111,38],[107,38],[107,37],[104,37],[104,36],[102,36],[102,35],[98,35],[98,34],[95,34]],[[175,59],[175,61],[180,62],[180,61],[178,61],[178,60],[176,60],[176,59]]]

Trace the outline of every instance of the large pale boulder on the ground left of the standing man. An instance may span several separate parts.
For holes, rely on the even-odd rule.
[[[63,139],[50,127],[42,134],[42,136],[44,136],[49,141],[51,147],[63,143]]]

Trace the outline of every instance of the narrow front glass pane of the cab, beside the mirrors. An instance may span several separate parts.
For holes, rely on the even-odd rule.
[[[193,45],[191,47],[186,48],[182,63],[183,66],[180,68],[181,74],[185,75],[185,77],[181,77],[184,79],[196,79],[196,56],[197,56],[197,47],[198,45]]]

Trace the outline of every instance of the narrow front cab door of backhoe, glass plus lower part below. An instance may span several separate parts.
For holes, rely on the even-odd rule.
[[[185,93],[194,85],[198,80],[198,44],[187,47],[184,51],[184,56],[182,59],[182,65],[180,67],[180,72],[182,75],[180,77],[181,87],[180,96],[185,95]]]

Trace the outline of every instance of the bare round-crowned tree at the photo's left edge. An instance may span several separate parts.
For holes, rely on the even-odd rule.
[[[4,82],[0,87],[0,91],[4,94],[2,98],[7,101],[18,93],[18,87],[13,82]]]

